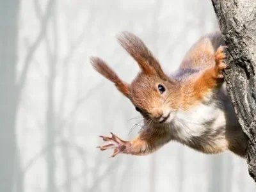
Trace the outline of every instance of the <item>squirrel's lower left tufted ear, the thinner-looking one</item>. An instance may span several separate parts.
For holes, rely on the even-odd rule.
[[[90,61],[97,72],[102,74],[102,76],[106,77],[109,81],[115,83],[116,88],[126,97],[129,97],[130,85],[122,81],[105,61],[97,57],[91,57]]]

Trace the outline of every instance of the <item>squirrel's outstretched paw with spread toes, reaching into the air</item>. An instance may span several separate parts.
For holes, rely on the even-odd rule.
[[[100,147],[100,150],[106,150],[109,148],[113,148],[114,152],[110,157],[115,157],[117,154],[122,154],[122,153],[129,153],[129,148],[131,148],[131,143],[129,141],[124,141],[118,138],[115,134],[111,132],[111,138],[108,136],[100,136],[103,141],[108,141],[110,142],[108,145],[102,145]]]

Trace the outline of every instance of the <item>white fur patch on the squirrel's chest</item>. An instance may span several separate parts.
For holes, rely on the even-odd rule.
[[[177,111],[170,123],[170,129],[176,140],[188,141],[193,137],[224,129],[225,125],[224,112],[216,104],[207,103],[199,104],[189,111]]]

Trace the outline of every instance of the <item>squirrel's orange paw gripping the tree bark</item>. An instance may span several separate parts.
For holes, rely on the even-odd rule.
[[[225,49],[227,49],[227,46],[220,46],[215,52],[215,77],[220,79],[223,78],[223,70],[228,68],[228,65],[223,61],[227,58]]]

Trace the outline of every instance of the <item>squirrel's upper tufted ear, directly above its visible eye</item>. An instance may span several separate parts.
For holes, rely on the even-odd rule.
[[[149,51],[144,42],[136,35],[123,31],[117,36],[118,42],[129,54],[138,62],[143,72],[151,73],[152,69],[161,77],[161,79],[168,80],[168,76],[164,74],[161,65],[154,58],[152,52]]]

